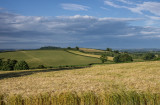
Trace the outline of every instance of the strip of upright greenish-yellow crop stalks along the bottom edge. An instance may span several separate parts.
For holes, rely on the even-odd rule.
[[[95,94],[87,92],[77,94],[65,92],[52,95],[49,93],[30,97],[21,95],[0,95],[0,105],[159,105],[159,94],[121,92]]]

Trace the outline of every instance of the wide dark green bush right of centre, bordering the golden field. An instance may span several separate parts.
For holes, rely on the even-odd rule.
[[[128,54],[122,54],[122,55],[115,56],[113,61],[116,63],[118,63],[118,62],[132,62],[133,59]]]

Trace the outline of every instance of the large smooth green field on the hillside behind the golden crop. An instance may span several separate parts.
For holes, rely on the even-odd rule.
[[[87,65],[100,63],[97,58],[85,57],[68,53],[64,50],[30,50],[0,53],[0,58],[25,60],[29,66],[38,65],[61,66],[61,65]]]

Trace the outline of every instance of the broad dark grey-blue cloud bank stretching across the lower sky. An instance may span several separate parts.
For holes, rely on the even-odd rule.
[[[138,20],[88,15],[39,17],[0,13],[0,48],[37,48],[45,45],[127,48],[148,43],[149,38],[160,38],[160,28],[130,24]]]

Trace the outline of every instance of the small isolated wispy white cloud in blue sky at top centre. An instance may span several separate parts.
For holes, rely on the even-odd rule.
[[[88,6],[71,4],[71,3],[63,3],[61,4],[61,6],[65,10],[72,10],[72,11],[87,11],[89,9]]]

